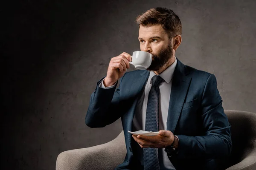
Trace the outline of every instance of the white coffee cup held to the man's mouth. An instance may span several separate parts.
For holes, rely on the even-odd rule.
[[[134,51],[131,56],[132,62],[129,63],[139,70],[145,70],[151,65],[152,57],[152,54],[146,51]]]

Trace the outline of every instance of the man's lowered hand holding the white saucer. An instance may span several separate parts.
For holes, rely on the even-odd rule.
[[[174,141],[174,135],[169,130],[160,130],[157,136],[132,135],[140,147],[165,148]]]

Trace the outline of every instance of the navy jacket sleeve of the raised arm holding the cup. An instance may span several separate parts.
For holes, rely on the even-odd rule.
[[[122,116],[119,109],[119,95],[123,77],[120,79],[117,89],[117,83],[113,88],[101,88],[99,84],[105,77],[97,82],[96,89],[90,96],[90,103],[85,117],[87,126],[105,127]]]

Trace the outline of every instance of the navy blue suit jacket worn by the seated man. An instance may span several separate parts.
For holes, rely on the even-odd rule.
[[[85,118],[89,127],[105,127],[121,117],[127,154],[117,169],[143,169],[139,145],[127,130],[133,130],[135,108],[148,76],[147,70],[127,72],[117,89],[100,88],[102,78],[90,97]],[[179,138],[178,153],[169,158],[177,170],[216,169],[216,160],[230,154],[230,124],[213,74],[186,66],[177,59],[167,130]]]

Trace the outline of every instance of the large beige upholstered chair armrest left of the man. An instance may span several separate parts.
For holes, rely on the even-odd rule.
[[[126,153],[122,131],[108,143],[60,153],[56,170],[113,170],[124,161]]]

